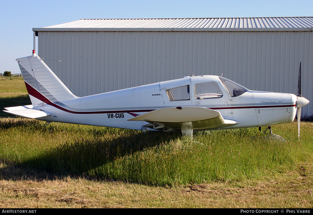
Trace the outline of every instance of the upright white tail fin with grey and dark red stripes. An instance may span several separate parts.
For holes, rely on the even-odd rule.
[[[36,54],[16,59],[33,106],[78,98]]]

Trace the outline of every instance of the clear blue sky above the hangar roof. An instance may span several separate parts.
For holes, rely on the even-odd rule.
[[[82,18],[312,17],[312,8],[312,0],[0,0],[0,73],[20,73],[15,59],[32,54],[33,28]]]

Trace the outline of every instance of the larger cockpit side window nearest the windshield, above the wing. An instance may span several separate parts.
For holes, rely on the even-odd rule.
[[[221,98],[223,92],[216,82],[195,84],[196,99]]]

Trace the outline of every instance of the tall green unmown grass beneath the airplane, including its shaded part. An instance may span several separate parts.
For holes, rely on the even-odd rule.
[[[276,125],[287,141],[257,128],[180,133],[133,131],[19,119],[0,121],[0,161],[57,175],[89,175],[151,185],[272,177],[312,163],[311,123]],[[32,173],[33,174],[33,173]]]

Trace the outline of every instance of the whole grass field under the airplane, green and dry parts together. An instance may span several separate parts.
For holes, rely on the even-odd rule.
[[[30,103],[11,92],[0,101]],[[313,207],[313,123],[301,123],[300,141],[296,123],[272,128],[286,141],[257,128],[191,140],[1,115],[0,206]]]

